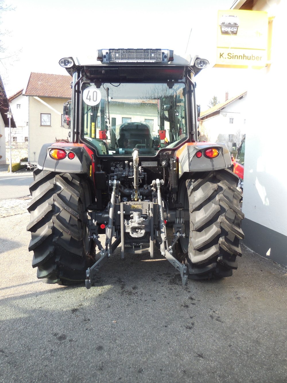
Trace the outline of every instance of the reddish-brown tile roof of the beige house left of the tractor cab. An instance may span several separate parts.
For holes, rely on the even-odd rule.
[[[71,76],[31,72],[25,96],[71,98]]]

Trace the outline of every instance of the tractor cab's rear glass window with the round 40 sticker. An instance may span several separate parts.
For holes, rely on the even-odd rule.
[[[82,84],[81,137],[99,155],[155,155],[188,136],[186,88],[175,83]]]

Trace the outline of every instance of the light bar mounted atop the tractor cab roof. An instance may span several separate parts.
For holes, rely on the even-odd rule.
[[[100,49],[97,57],[103,63],[166,63],[173,61],[173,58],[173,51],[170,49]]]

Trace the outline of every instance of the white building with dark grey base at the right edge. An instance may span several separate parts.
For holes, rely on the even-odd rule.
[[[287,265],[287,176],[284,167],[287,128],[282,113],[278,113],[286,107],[286,54],[282,36],[286,33],[287,2],[237,0],[232,9],[266,11],[271,39],[270,61],[266,67],[252,71],[247,89],[242,206],[245,244],[260,255]]]

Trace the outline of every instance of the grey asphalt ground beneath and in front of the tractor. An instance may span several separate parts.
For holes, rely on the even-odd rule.
[[[29,214],[1,218],[0,382],[286,382],[287,270],[243,247],[233,277],[189,280],[119,251],[95,285],[46,285]]]

